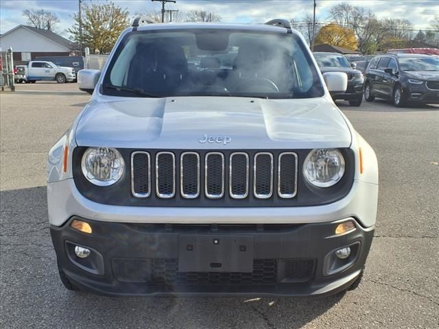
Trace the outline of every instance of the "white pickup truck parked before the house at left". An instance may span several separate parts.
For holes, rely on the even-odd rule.
[[[55,80],[58,84],[76,80],[76,72],[71,67],[56,66],[52,62],[34,60],[25,66],[25,76],[30,83],[36,80]]]

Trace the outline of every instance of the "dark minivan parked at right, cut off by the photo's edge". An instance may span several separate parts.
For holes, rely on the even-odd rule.
[[[439,57],[386,54],[373,58],[366,69],[364,98],[406,103],[439,103]]]

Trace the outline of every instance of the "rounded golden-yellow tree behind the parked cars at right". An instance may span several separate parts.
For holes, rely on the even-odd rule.
[[[316,45],[329,45],[357,50],[357,38],[353,29],[341,27],[335,23],[325,25],[316,36]]]

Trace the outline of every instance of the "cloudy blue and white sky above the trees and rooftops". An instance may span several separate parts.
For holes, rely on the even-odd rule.
[[[84,0],[85,3],[104,3],[105,0]],[[113,0],[122,8],[127,8],[134,16],[137,12],[160,10],[161,3],[150,0]],[[415,29],[431,28],[434,14],[439,14],[439,0],[317,0],[318,22],[327,22],[328,9],[336,3],[346,2],[370,9],[379,17],[409,19]],[[167,9],[212,11],[222,17],[224,22],[262,23],[273,18],[298,19],[312,14],[313,0],[177,0],[168,3]],[[56,32],[64,32],[73,24],[73,13],[78,11],[78,0],[1,0],[0,33],[3,34],[19,24],[27,24],[22,16],[25,9],[44,9],[56,12],[60,23]]]

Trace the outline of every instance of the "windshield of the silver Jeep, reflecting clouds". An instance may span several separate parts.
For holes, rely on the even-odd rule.
[[[127,97],[320,97],[311,58],[294,34],[132,32],[113,56],[102,91]]]

